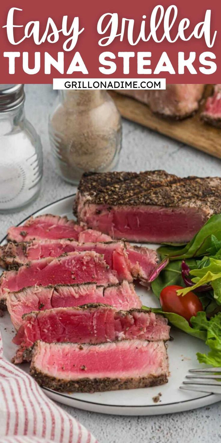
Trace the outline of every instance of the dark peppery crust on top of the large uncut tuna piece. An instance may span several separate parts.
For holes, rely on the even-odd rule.
[[[86,204],[198,207],[205,209],[210,217],[221,212],[220,186],[219,177],[179,178],[165,171],[84,174],[78,187],[74,213],[77,214],[81,199],[81,207]]]

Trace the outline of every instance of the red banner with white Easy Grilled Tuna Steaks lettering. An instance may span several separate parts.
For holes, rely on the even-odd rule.
[[[0,80],[128,77],[220,83],[220,17],[217,0],[8,0],[1,6]]]

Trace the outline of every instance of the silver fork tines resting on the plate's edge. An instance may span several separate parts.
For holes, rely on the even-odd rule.
[[[188,381],[183,381],[179,389],[187,391],[221,394],[221,368],[189,369]]]

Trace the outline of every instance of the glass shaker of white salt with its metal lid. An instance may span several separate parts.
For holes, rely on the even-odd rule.
[[[22,210],[40,192],[42,145],[24,101],[24,85],[0,85],[0,213]]]

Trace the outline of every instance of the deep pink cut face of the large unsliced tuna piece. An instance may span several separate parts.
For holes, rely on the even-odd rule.
[[[108,209],[107,209],[108,207]],[[80,219],[112,238],[162,243],[187,242],[207,221],[196,207],[105,206],[85,204]]]

